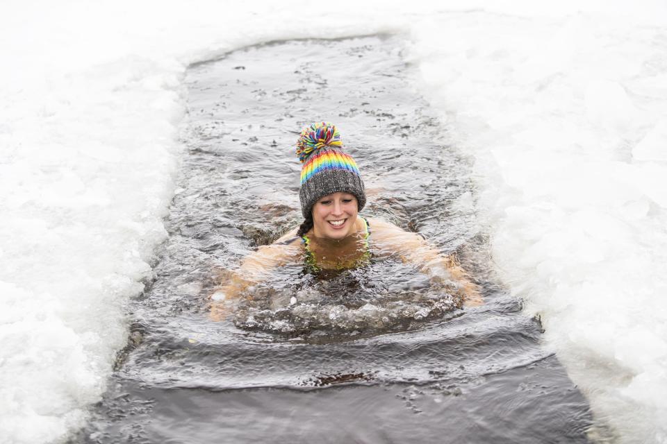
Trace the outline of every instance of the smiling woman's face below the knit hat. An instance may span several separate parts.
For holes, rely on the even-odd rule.
[[[358,208],[354,194],[338,192],[320,198],[312,210],[313,234],[329,239],[343,239],[354,234]]]

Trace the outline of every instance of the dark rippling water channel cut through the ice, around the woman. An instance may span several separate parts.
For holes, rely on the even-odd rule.
[[[588,442],[586,400],[541,347],[539,321],[494,282],[469,166],[440,142],[401,48],[276,42],[190,67],[170,238],[72,442]],[[362,214],[456,252],[485,305],[458,309],[385,259],[333,276],[276,271],[254,289],[263,302],[208,319],[215,276],[300,223],[293,146],[315,120],[336,123],[359,164]]]

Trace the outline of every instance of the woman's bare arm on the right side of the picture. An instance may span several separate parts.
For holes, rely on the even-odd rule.
[[[370,227],[374,244],[379,248],[399,255],[403,262],[419,266],[420,271],[428,275],[433,282],[447,280],[455,282],[459,285],[466,305],[475,306],[484,303],[479,294],[479,287],[470,280],[454,257],[442,255],[418,234],[402,230],[381,219],[371,219]]]

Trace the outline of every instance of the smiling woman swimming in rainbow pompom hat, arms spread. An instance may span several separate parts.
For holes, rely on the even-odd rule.
[[[371,255],[400,257],[431,282],[453,284],[464,305],[483,303],[477,285],[454,257],[442,255],[416,233],[359,215],[366,203],[365,187],[334,125],[318,122],[304,128],[297,156],[303,164],[299,200],[304,223],[273,244],[259,247],[227,277],[211,295],[213,320],[226,318],[238,297],[266,280],[274,268],[301,263],[319,273],[360,266]]]

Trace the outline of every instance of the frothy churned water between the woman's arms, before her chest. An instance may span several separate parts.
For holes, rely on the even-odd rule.
[[[252,287],[251,297],[242,299],[236,309],[235,323],[268,332],[354,336],[359,331],[386,331],[442,316],[461,307],[454,282],[431,285],[426,275],[400,259],[374,262],[374,268],[330,271],[328,279],[304,274],[299,264],[291,275],[279,273]]]

